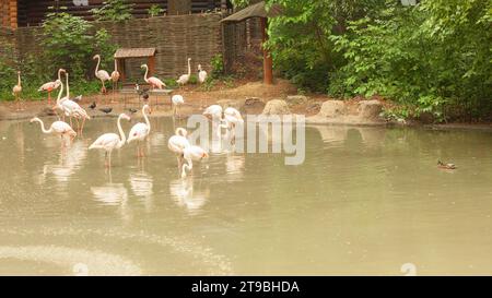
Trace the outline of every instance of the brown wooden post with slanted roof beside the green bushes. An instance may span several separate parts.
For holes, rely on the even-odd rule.
[[[268,40],[268,17],[273,17],[282,12],[280,5],[272,5],[270,10],[267,11],[265,1],[253,4],[244,10],[241,10],[221,22],[244,22],[248,19],[259,17],[261,22],[262,41],[263,44]],[[265,84],[273,84],[273,60],[270,52],[263,46],[263,82]]]

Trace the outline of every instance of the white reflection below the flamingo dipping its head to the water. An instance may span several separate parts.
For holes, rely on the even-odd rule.
[[[176,204],[185,207],[191,215],[199,214],[210,196],[209,188],[195,191],[192,177],[171,181],[169,192]]]

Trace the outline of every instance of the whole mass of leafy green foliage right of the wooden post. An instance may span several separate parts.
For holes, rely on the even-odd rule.
[[[270,0],[274,67],[301,90],[382,95],[400,116],[480,118],[492,110],[492,1]]]

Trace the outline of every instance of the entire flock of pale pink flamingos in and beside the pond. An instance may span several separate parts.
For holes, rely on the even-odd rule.
[[[93,58],[97,60],[97,65],[95,69],[95,76],[102,83],[102,92],[106,92],[106,82],[112,82],[113,87],[117,84],[119,80],[119,72],[117,70],[117,63],[115,62],[115,71],[109,75],[109,73],[105,70],[101,70],[101,56],[96,55]],[[176,81],[179,86],[187,84],[191,76],[191,59],[188,58],[188,73],[179,76]],[[142,69],[145,69],[144,80],[152,88],[163,88],[166,85],[157,78],[151,76],[149,78],[149,67],[147,64],[141,65]],[[206,82],[207,72],[198,65],[198,79],[200,83]],[[62,82],[62,74],[65,74],[66,83]],[[19,84],[13,88],[13,94],[16,96],[19,100],[19,94],[22,91],[21,86],[21,73],[17,72]],[[65,86],[67,88],[66,96],[63,96]],[[54,82],[49,82],[44,84],[39,91],[48,92],[48,103],[50,103],[50,93],[55,90],[59,88],[58,97],[56,100],[56,105],[52,107],[52,110],[57,111],[58,120],[52,122],[49,129],[46,129],[45,123],[39,118],[31,119],[31,122],[38,122],[40,124],[40,129],[43,133],[46,134],[56,134],[59,135],[62,140],[62,146],[65,146],[66,136],[70,139],[70,142],[77,138],[78,133],[82,134],[84,129],[84,123],[86,120],[90,120],[91,117],[82,108],[77,102],[70,99],[70,87],[69,87],[69,74],[65,69],[58,70],[58,79]],[[174,95],[172,97],[173,104],[173,115],[176,115],[176,108],[185,103],[184,97],[181,95]],[[109,168],[112,166],[112,153],[115,150],[120,150],[125,144],[130,144],[132,142],[137,142],[137,156],[144,157],[144,150],[142,146],[143,141],[151,133],[151,122],[149,120],[149,115],[151,114],[151,107],[145,104],[142,107],[142,115],[144,122],[139,122],[134,124],[128,138],[125,134],[121,120],[130,120],[130,116],[126,114],[120,114],[117,118],[117,129],[118,133],[104,133],[99,138],[97,138],[90,146],[89,150],[102,150],[105,152],[105,167]],[[219,105],[212,105],[208,107],[203,111],[204,116],[212,117],[213,119],[219,119],[219,135],[221,136],[222,129],[225,129],[225,138],[229,138],[231,142],[234,142],[234,128],[237,123],[243,122],[243,118],[241,112],[232,107],[229,107],[223,110],[223,108]],[[66,117],[70,118],[70,124],[66,122]],[[77,121],[77,132],[73,129],[72,118]],[[167,142],[167,146],[169,151],[176,154],[178,168],[181,178],[186,178],[194,168],[194,162],[201,160],[207,158],[209,155],[206,150],[200,146],[191,145],[187,139],[188,132],[184,128],[177,128],[175,131],[175,135],[171,136]]]

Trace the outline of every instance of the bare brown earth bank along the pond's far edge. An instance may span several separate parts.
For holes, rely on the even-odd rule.
[[[249,82],[236,87],[221,88],[215,91],[198,91],[196,86],[187,86],[183,90],[174,90],[174,94],[180,94],[185,97],[185,105],[180,107],[180,115],[187,117],[192,114],[201,114],[206,106],[213,104],[224,104],[238,107],[245,114],[261,114],[267,102],[272,99],[285,99],[288,96],[297,96],[296,88],[285,80],[277,80],[274,85],[263,85],[261,82]],[[373,123],[363,122],[342,122],[327,120],[325,122],[313,122],[309,117],[315,118],[319,111],[319,106],[332,98],[327,95],[307,94],[307,102],[291,103],[289,108],[293,115],[304,115],[306,117],[306,126],[352,126],[352,127],[386,127],[386,128],[424,128],[434,130],[483,130],[492,131],[491,122],[449,122],[449,123],[424,123],[421,121],[410,120],[406,123],[398,123],[396,121],[379,121]],[[113,98],[116,102],[113,102]],[[258,105],[247,106],[245,103],[248,99],[254,99]],[[55,105],[56,99],[48,105],[47,100],[27,100],[22,102],[23,110],[15,111],[15,103],[1,102],[0,103],[0,121],[24,121],[33,117],[56,117],[50,115],[49,109]],[[95,109],[90,109],[92,103],[96,103]],[[347,100],[350,103],[353,100]],[[150,95],[150,105],[153,107],[151,117],[171,117],[171,96],[169,95]],[[155,105],[157,103],[157,105]],[[139,102],[136,94],[117,93],[113,96],[112,93],[106,95],[91,95],[84,96],[79,103],[86,109],[91,118],[101,117],[117,117],[120,112],[130,115],[129,109],[139,109],[142,102]],[[350,105],[350,104],[349,104]],[[106,115],[98,109],[102,107],[112,107],[113,111]],[[139,112],[137,112],[139,114]]]

